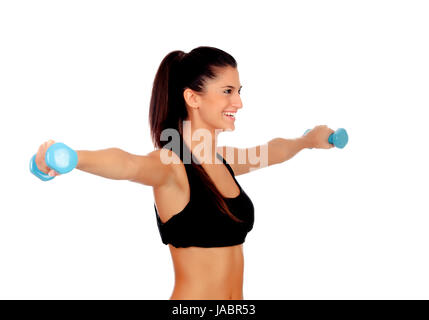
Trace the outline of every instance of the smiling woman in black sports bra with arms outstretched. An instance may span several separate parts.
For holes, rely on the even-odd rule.
[[[243,243],[254,207],[235,176],[284,162],[304,148],[333,147],[328,137],[334,131],[326,126],[249,149],[218,147],[218,133],[234,130],[243,107],[240,90],[237,63],[228,53],[173,51],[153,84],[149,122],[156,149],[145,156],[118,148],[77,151],[80,170],[153,187],[158,228],[174,264],[170,299],[243,299]],[[203,142],[195,138],[201,132]],[[58,175],[44,161],[53,143],[40,146],[36,164]]]

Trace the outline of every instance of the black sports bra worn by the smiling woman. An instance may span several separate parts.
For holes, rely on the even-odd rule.
[[[183,162],[183,153],[191,154],[189,148],[181,139],[183,152],[178,156]],[[185,208],[173,215],[165,223],[161,221],[154,203],[155,215],[159,233],[164,244],[180,247],[227,247],[242,244],[247,233],[252,230],[254,223],[254,207],[252,201],[241,188],[234,176],[229,164],[218,153],[235,183],[240,189],[240,194],[235,198],[224,197],[231,213],[242,220],[236,222],[227,214],[219,211],[214,200],[207,194],[207,189],[202,185],[195,169],[190,163],[184,163],[190,187],[190,199]],[[189,155],[187,159],[192,159]],[[198,163],[198,161],[194,161]]]

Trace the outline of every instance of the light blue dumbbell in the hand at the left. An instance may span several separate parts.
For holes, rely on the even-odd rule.
[[[62,142],[54,143],[46,150],[46,165],[60,174],[72,171],[77,165],[77,152]],[[42,181],[49,181],[55,177],[42,172],[36,166],[36,154],[30,160],[30,171]]]

